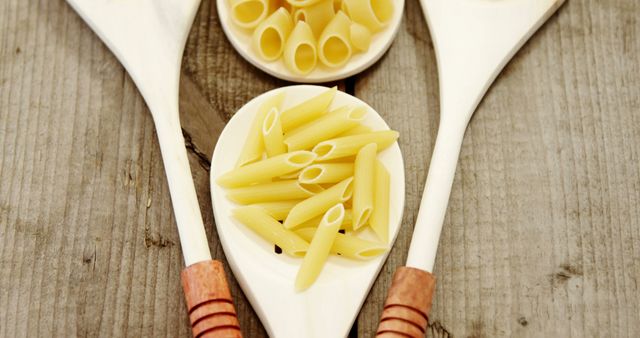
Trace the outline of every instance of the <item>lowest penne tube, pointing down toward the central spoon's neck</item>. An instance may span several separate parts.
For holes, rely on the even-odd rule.
[[[342,203],[334,205],[324,214],[296,275],[296,290],[302,291],[309,288],[320,275],[327,258],[329,258],[331,247],[338,235],[343,218],[344,206]]]

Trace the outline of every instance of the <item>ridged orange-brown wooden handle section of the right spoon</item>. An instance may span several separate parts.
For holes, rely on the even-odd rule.
[[[427,330],[435,277],[420,269],[400,267],[384,303],[377,338],[422,338]]]

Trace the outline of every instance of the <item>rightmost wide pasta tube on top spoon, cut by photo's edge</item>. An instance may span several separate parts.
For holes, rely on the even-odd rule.
[[[393,18],[393,0],[344,0],[351,20],[377,32]]]

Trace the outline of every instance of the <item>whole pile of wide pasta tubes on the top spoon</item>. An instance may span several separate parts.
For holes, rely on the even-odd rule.
[[[393,17],[392,0],[229,0],[231,19],[252,32],[252,48],[266,61],[281,56],[293,73],[306,75],[318,59],[344,66],[366,52],[371,36]]]

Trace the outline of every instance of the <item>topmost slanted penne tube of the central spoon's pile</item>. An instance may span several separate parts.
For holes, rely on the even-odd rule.
[[[316,95],[282,111],[282,114],[280,114],[282,131],[287,133],[298,126],[322,116],[327,111],[337,91],[338,87],[332,87],[320,95]]]

